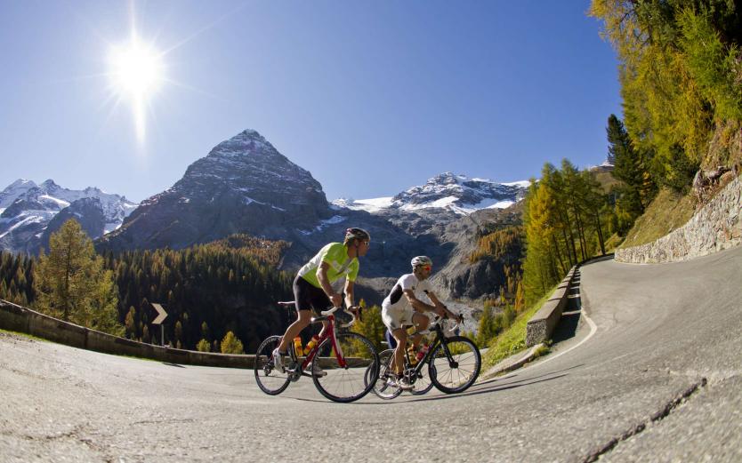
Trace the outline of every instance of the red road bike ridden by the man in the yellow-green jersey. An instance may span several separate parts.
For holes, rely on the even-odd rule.
[[[281,307],[294,307],[294,302],[278,302]],[[309,376],[314,381],[319,393],[335,402],[353,402],[367,395],[374,387],[379,374],[379,355],[374,343],[365,336],[352,331],[345,331],[356,323],[356,315],[349,310],[350,323],[338,324],[333,307],[321,312],[322,316],[313,317],[311,323],[327,322],[327,330],[319,338],[307,355],[297,352],[294,343],[290,343],[286,352],[284,371],[273,364],[273,350],[281,342],[281,336],[270,336],[262,341],[255,354],[255,381],[262,392],[278,395],[286,390],[291,382],[302,376]],[[360,310],[360,309],[359,309]],[[313,374],[320,368],[327,374]]]

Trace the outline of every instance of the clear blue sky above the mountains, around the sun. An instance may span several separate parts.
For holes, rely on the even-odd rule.
[[[621,101],[588,6],[0,0],[0,188],[51,178],[141,201],[246,128],[328,199],[447,171],[515,181],[562,157],[600,164]],[[141,140],[107,76],[133,23],[167,79]]]

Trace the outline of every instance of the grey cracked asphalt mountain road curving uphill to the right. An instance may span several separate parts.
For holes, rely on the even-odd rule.
[[[742,247],[580,278],[552,354],[463,395],[273,397],[252,371],[0,333],[0,460],[742,461]]]

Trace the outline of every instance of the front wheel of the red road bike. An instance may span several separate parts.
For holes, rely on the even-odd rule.
[[[312,371],[318,367],[324,375],[312,374],[311,379],[319,393],[335,402],[353,402],[374,388],[379,376],[379,355],[374,344],[356,332],[338,333],[335,339],[342,352],[345,367],[338,362],[332,340],[319,345],[312,360]]]

